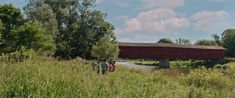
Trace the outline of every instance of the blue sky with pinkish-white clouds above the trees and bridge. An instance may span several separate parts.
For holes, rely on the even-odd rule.
[[[25,0],[0,0],[18,7]],[[160,38],[211,39],[235,28],[235,0],[97,0],[119,41],[157,42]]]

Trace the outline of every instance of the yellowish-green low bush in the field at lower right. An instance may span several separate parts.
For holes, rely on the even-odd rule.
[[[191,71],[186,76],[186,83],[205,88],[229,88],[233,84],[231,79],[225,77],[219,70],[205,68]]]

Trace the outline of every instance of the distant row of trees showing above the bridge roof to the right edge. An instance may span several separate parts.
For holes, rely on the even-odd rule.
[[[194,45],[205,45],[205,46],[223,46],[226,48],[226,57],[235,57],[235,29],[227,29],[221,37],[217,34],[212,34],[213,40],[202,39],[198,40]],[[176,41],[172,41],[169,38],[162,38],[157,43],[168,43],[168,44],[180,44],[190,45],[192,44],[189,39],[178,38]]]

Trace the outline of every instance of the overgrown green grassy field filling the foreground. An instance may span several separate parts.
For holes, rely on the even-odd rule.
[[[228,68],[143,71],[118,66],[98,75],[82,60],[0,61],[0,96],[235,98],[235,63],[223,66]]]

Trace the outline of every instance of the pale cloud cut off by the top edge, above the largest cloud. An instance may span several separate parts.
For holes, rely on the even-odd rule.
[[[150,8],[176,8],[184,5],[184,0],[142,0]]]

